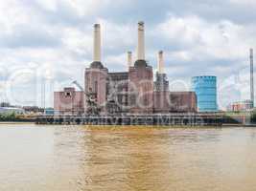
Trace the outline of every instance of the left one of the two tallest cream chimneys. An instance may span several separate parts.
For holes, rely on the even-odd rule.
[[[101,62],[102,61],[102,42],[101,42],[101,25],[94,25],[94,39],[93,39],[93,61]]]

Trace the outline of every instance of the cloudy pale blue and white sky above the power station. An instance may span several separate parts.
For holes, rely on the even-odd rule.
[[[255,0],[0,0],[0,102],[53,106],[54,91],[73,80],[83,86],[95,23],[105,67],[126,71],[144,21],[154,72],[162,50],[172,91],[189,91],[194,75],[216,75],[223,109],[249,98],[255,9]]]

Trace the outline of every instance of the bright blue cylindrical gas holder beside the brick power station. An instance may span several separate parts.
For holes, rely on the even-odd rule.
[[[198,97],[198,112],[217,112],[217,77],[195,76],[192,89]]]

